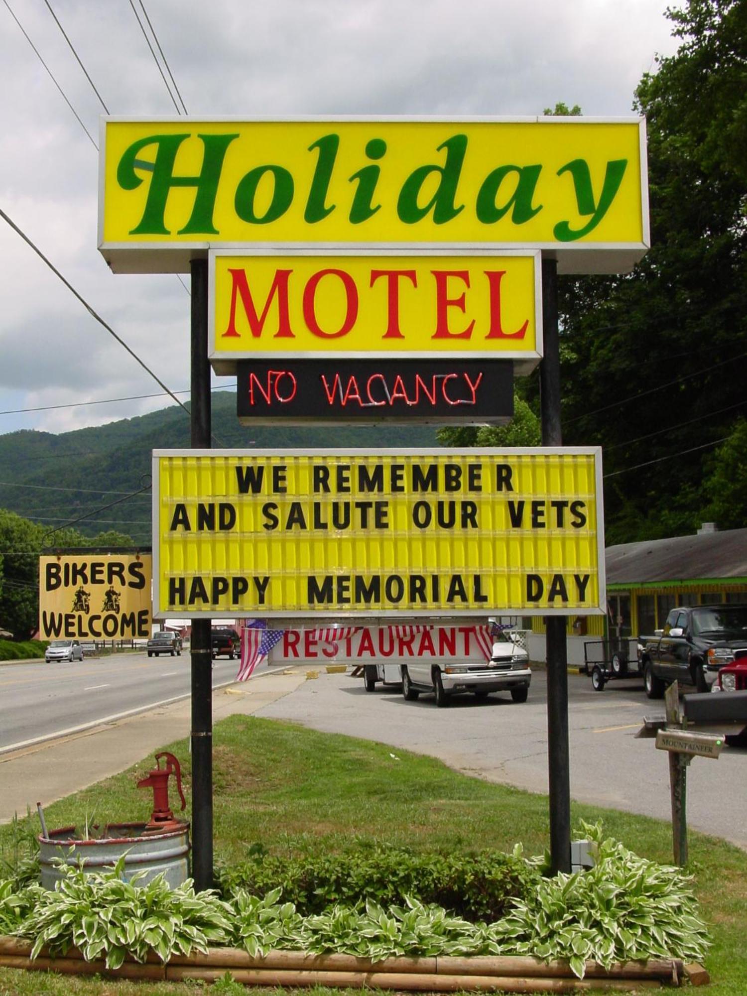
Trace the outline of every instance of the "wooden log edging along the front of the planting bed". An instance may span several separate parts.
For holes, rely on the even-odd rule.
[[[613,965],[610,969],[588,961],[586,976],[578,979],[565,961],[541,961],[531,957],[479,956],[393,957],[381,961],[349,954],[306,954],[303,951],[270,951],[252,957],[238,948],[214,947],[207,954],[172,955],[161,963],[154,955],[145,964],[131,958],[116,970],[105,962],[84,960],[71,948],[65,957],[51,958],[43,949],[31,959],[31,943],[15,937],[0,937],[0,965],[32,971],[56,971],[72,975],[101,973],[113,978],[183,981],[216,981],[230,971],[236,982],[247,986],[300,988],[395,989],[410,992],[511,992],[570,993],[589,989],[608,991],[679,986],[687,977],[704,985],[707,972],[701,966],[685,966],[676,958]]]

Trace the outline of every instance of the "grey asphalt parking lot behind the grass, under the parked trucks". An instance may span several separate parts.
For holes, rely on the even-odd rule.
[[[663,715],[640,680],[592,689],[586,675],[569,675],[571,794],[576,800],[670,819],[666,754],[653,740],[636,740],[643,715]],[[440,758],[489,781],[533,792],[548,791],[545,673],[536,670],[529,700],[508,693],[485,702],[455,698],[445,709],[433,696],[405,702],[391,686],[364,690],[350,674],[326,674],[257,715],[288,719],[314,729],[346,733]],[[688,825],[747,848],[747,748],[727,747],[718,760],[695,758],[687,773]]]

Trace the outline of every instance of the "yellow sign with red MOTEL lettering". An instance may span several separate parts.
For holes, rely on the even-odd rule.
[[[539,253],[212,255],[210,359],[542,357]],[[538,321],[539,314],[539,321]]]

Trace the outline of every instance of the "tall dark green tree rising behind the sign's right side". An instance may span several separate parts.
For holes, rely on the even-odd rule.
[[[667,17],[682,44],[634,105],[651,249],[629,275],[560,281],[564,441],[604,447],[609,544],[694,532],[704,458],[747,403],[747,5]]]

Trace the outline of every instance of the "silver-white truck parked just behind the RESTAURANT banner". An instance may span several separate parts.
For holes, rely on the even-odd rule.
[[[510,691],[514,702],[526,702],[532,681],[529,654],[508,633],[493,638],[493,653],[485,663],[433,664],[423,658],[422,663],[403,664],[402,695],[412,702],[420,692],[432,692],[440,708],[449,704],[452,695],[468,692],[486,698],[493,691]]]

